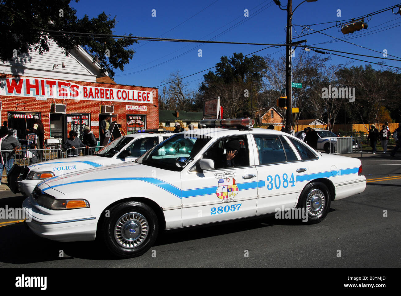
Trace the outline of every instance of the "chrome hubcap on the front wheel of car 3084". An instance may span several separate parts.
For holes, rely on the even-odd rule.
[[[139,213],[122,215],[115,223],[114,238],[125,248],[132,249],[140,245],[148,236],[148,221]]]

